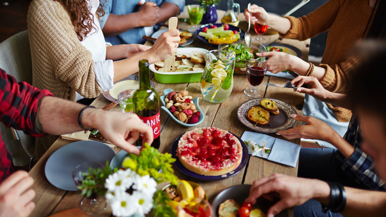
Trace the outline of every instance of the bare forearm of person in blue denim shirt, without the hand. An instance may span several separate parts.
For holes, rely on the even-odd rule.
[[[104,36],[115,36],[141,26],[138,13],[110,14],[102,31]]]

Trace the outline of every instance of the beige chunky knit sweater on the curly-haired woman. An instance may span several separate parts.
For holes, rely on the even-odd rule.
[[[81,45],[64,7],[53,0],[32,0],[27,14],[33,85],[56,97],[76,101],[75,92],[97,97],[92,54]],[[53,120],[54,121],[54,120]],[[36,139],[35,155],[43,156],[57,136]]]

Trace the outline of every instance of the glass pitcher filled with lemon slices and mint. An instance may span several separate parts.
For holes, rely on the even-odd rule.
[[[223,103],[233,89],[235,52],[220,50],[205,54],[206,65],[201,76],[201,93],[209,103]]]

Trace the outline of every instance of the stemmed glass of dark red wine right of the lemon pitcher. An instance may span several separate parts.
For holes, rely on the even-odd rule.
[[[252,87],[244,89],[244,94],[248,97],[259,97],[263,93],[257,88],[264,79],[267,72],[267,63],[261,60],[250,60],[246,63],[246,79]]]

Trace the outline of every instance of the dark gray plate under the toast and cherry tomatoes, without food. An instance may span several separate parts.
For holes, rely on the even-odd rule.
[[[228,199],[235,200],[241,206],[244,200],[249,196],[250,187],[251,185],[235,185],[220,192],[212,202],[215,216],[218,217],[218,208],[220,207],[220,204]],[[253,205],[253,208],[258,208],[264,213],[267,213],[268,209],[274,205],[274,203],[275,202],[259,197],[256,200],[256,204]],[[288,212],[287,210],[284,210],[275,217],[288,217]]]

